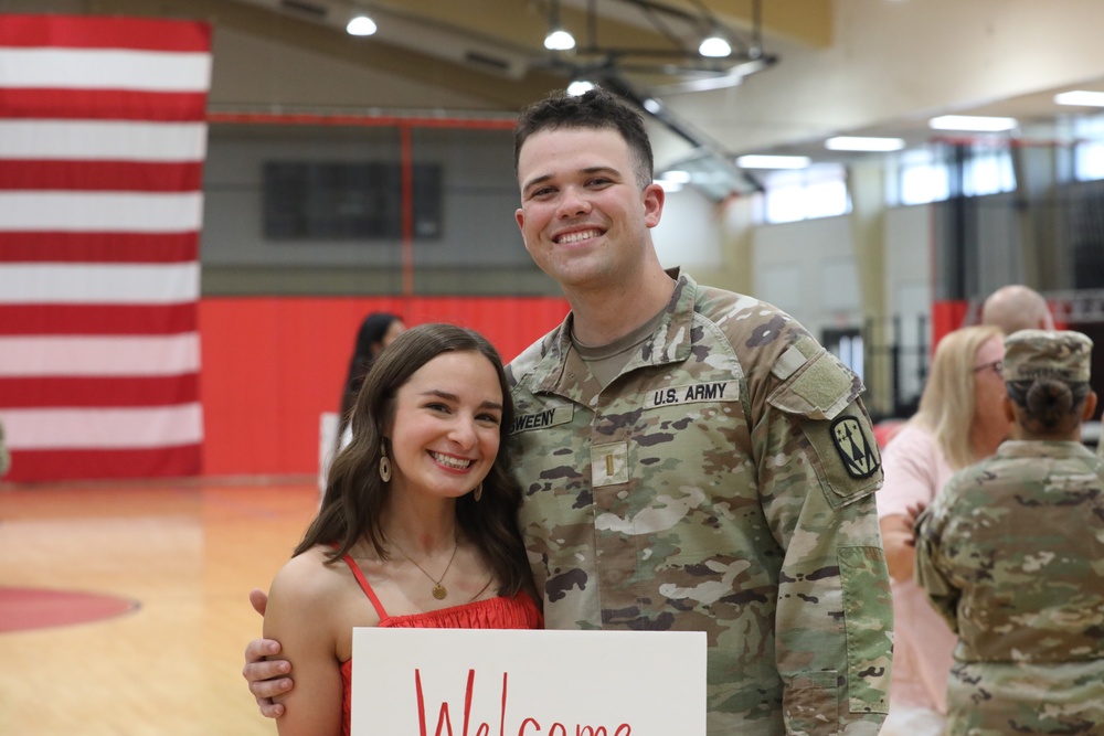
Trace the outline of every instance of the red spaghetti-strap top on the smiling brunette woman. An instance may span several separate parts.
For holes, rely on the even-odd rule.
[[[375,590],[368,584],[368,578],[360,572],[360,567],[352,557],[344,555],[342,559],[349,565],[349,569],[355,576],[361,589],[368,599],[372,601],[372,607],[380,616],[381,627],[395,629],[543,629],[544,619],[537,604],[524,593],[519,593],[512,598],[497,596],[485,600],[475,600],[461,606],[452,606],[425,614],[410,614],[407,616],[388,616],[383,609]],[[349,728],[352,718],[352,660],[341,663],[341,682],[344,693],[341,696],[341,734],[349,736]]]

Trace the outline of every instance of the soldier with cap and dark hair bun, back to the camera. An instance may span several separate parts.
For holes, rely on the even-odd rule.
[[[1104,461],[1081,442],[1092,341],[1005,340],[1011,439],[916,522],[916,577],[958,634],[951,736],[1104,735]]]

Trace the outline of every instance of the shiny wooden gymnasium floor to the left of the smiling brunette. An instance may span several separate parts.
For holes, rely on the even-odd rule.
[[[0,735],[274,736],[241,676],[262,623],[248,591],[317,502],[312,477],[0,483]],[[137,608],[42,626],[11,605],[28,588]]]

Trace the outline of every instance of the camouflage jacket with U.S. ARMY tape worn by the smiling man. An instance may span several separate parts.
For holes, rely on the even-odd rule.
[[[549,628],[708,634],[709,734],[875,734],[892,607],[861,382],[775,308],[686,274],[602,390],[572,317],[508,370]]]

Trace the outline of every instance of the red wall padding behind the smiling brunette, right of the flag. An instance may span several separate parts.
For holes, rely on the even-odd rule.
[[[203,473],[318,471],[319,417],[337,412],[357,330],[392,311],[408,326],[482,332],[509,362],[567,313],[561,298],[204,298]]]

